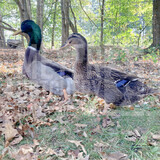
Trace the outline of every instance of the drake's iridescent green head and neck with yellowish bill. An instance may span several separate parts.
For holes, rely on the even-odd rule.
[[[40,50],[41,47],[41,29],[40,27],[32,20],[25,20],[21,24],[21,31],[15,32],[14,35],[20,34],[20,33],[26,33],[30,37],[29,46],[32,46],[36,48],[37,50]]]

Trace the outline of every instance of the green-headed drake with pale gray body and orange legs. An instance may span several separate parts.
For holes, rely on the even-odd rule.
[[[21,30],[16,31],[14,35],[21,33],[28,34],[30,38],[24,56],[23,74],[50,93],[64,95],[66,101],[68,94],[72,95],[75,91],[73,71],[39,54],[42,41],[41,29],[34,21],[23,21]]]

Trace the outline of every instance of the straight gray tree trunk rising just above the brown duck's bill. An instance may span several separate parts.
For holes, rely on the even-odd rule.
[[[65,43],[69,36],[69,4],[70,0],[61,0],[62,44]]]

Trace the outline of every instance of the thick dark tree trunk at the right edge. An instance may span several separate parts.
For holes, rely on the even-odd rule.
[[[160,0],[153,0],[153,44],[152,46],[160,46]]]

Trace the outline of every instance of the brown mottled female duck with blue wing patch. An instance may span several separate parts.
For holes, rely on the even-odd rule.
[[[69,45],[77,50],[74,69],[77,91],[95,94],[103,98],[106,103],[113,103],[116,106],[130,105],[155,92],[140,82],[136,76],[106,66],[89,64],[87,41],[82,35],[71,34],[61,49]]]

